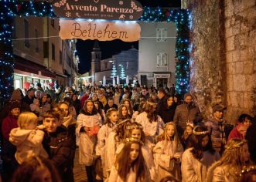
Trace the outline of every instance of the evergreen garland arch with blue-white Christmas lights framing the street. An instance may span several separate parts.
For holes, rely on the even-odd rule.
[[[55,17],[49,2],[21,0],[0,1],[0,100],[11,96],[13,91],[13,49],[12,49],[12,17],[48,16]],[[190,12],[186,9],[144,7],[138,21],[142,22],[175,22],[176,23],[176,92],[183,95],[189,91],[189,27]]]

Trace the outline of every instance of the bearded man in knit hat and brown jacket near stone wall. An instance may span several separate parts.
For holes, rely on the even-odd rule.
[[[203,117],[198,106],[193,104],[193,96],[190,93],[186,93],[184,95],[184,103],[176,107],[173,117],[173,121],[176,123],[179,135],[183,135],[184,130],[186,130],[187,123],[193,123],[193,125],[196,126],[202,120]]]

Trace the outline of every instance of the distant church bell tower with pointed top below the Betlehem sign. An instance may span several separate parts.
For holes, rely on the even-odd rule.
[[[95,80],[95,72],[101,71],[101,49],[99,42],[95,40],[94,48],[91,52],[91,76],[93,76],[93,83]]]

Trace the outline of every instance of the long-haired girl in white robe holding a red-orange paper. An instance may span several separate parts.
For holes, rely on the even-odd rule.
[[[79,140],[79,162],[85,165],[89,181],[94,181],[94,147],[97,143],[100,123],[101,116],[97,113],[94,102],[87,99],[77,116],[76,133]]]

